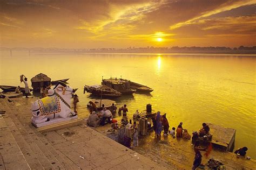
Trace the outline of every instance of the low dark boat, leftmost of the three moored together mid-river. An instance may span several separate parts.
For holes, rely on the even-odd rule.
[[[114,90],[110,87],[105,85],[95,85],[95,86],[84,86],[84,93],[91,93],[92,95],[102,96],[107,98],[116,98],[122,96],[120,92]]]

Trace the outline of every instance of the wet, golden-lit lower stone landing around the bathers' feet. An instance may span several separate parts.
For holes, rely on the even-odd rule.
[[[107,124],[95,129],[113,140],[117,140],[116,131],[107,132],[110,128],[110,124]],[[172,138],[171,136],[164,137],[163,133],[160,139],[154,138],[152,131],[147,136],[140,137],[139,147],[132,148],[132,150],[168,169],[191,169],[194,161],[193,148],[191,140]],[[226,149],[213,149],[208,157],[204,155],[204,151],[201,151],[201,154],[203,155],[202,163],[206,165],[209,159],[214,158],[223,162],[227,169],[256,169],[256,160],[237,158],[234,153],[227,152]]]

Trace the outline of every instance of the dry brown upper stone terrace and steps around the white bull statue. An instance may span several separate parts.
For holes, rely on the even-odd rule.
[[[37,98],[0,99],[0,169],[166,169],[82,125],[40,133],[31,124]],[[134,156],[136,155],[136,156]]]

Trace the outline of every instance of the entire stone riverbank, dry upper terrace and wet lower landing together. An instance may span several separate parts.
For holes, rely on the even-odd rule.
[[[0,99],[1,110],[6,111],[0,119],[0,164],[6,169],[191,169],[194,153],[190,141],[171,137],[158,140],[150,134],[140,138],[139,147],[130,150],[106,137],[110,125],[95,131],[85,121],[72,128],[39,133],[30,122],[30,106],[35,100]],[[213,150],[209,158],[221,160],[227,169],[256,168],[255,160],[237,158],[230,152]],[[203,162],[209,158],[203,157]]]

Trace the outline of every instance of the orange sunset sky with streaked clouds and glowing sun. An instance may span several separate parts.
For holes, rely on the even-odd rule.
[[[0,46],[255,46],[255,12],[256,0],[2,0]]]

